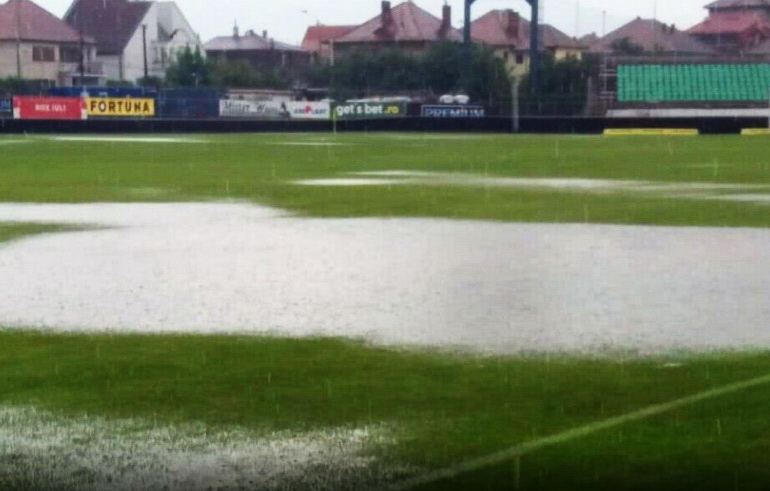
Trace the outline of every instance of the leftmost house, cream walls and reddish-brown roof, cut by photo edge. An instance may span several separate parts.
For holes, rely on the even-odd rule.
[[[46,85],[99,83],[94,40],[29,0],[0,5],[0,77]],[[82,75],[82,77],[81,77]]]

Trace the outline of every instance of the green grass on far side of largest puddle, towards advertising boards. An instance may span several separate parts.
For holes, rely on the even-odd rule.
[[[200,136],[206,143],[56,142],[3,147],[0,201],[244,199],[311,216],[425,216],[527,222],[770,225],[766,206],[633,193],[483,187],[310,188],[296,179],[372,170],[762,184],[767,139],[417,135]],[[331,138],[341,145],[280,143]]]

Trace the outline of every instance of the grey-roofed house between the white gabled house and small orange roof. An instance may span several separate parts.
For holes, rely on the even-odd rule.
[[[263,31],[253,30],[241,35],[238,27],[232,36],[220,36],[207,42],[206,56],[228,61],[244,61],[260,71],[279,71],[284,75],[298,75],[310,65],[311,54],[299,46],[281,43]]]

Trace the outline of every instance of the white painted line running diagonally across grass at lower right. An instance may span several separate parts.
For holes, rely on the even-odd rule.
[[[770,384],[770,375],[765,375],[764,377],[746,380],[744,382],[736,382],[734,384],[726,385],[724,387],[718,387],[716,389],[707,390],[706,392],[701,392],[700,394],[694,394],[682,399],[677,399],[675,401],[666,402],[663,404],[657,404],[654,406],[649,406],[645,409],[640,409],[638,411],[634,411],[621,416],[616,416],[614,418],[606,419],[604,421],[598,421],[596,423],[591,423],[585,426],[580,426],[578,428],[573,428],[563,433],[558,433],[556,435],[541,438],[539,440],[533,440],[531,442],[522,443],[520,445],[516,445],[506,450],[501,450],[500,452],[487,455],[485,457],[479,457],[477,459],[469,460],[455,467],[450,467],[447,469],[430,472],[428,474],[424,474],[422,476],[418,476],[413,479],[402,481],[401,483],[393,485],[389,489],[393,491],[404,491],[404,490],[416,488],[417,486],[424,486],[426,484],[432,484],[438,481],[443,481],[445,479],[453,479],[461,474],[477,471],[485,467],[489,467],[495,464],[500,464],[507,460],[513,460],[513,459],[516,459],[517,457],[521,457],[525,454],[534,452],[536,450],[540,450],[545,447],[550,447],[561,443],[569,442],[572,440],[577,440],[578,438],[583,438],[593,433],[598,433],[603,430],[608,430],[610,428],[622,426],[626,423],[651,418],[653,416],[658,416],[658,415],[673,411],[675,409],[679,409],[681,407],[691,406],[708,399],[715,399],[717,397],[722,397],[728,394],[733,394],[735,392],[740,392],[743,390],[747,390],[760,385],[767,385],[767,384]]]

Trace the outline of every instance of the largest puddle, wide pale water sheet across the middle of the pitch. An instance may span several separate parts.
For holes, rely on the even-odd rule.
[[[770,230],[0,205],[113,227],[0,245],[0,325],[347,336],[497,353],[770,346]]]

